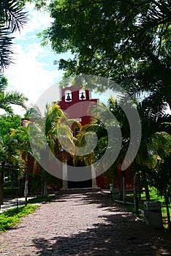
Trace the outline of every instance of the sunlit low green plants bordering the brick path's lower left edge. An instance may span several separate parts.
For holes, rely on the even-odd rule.
[[[4,211],[0,214],[0,231],[14,227],[20,222],[21,217],[25,217],[35,211],[38,206],[32,206],[28,204],[27,206],[20,206]]]

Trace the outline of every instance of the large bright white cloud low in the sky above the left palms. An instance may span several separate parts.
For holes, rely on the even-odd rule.
[[[53,63],[40,62],[39,56],[47,56],[47,52],[34,43],[28,46],[28,52],[25,53],[20,45],[15,48],[16,58],[5,71],[9,82],[9,90],[15,89],[28,97],[29,102],[36,102],[40,94],[45,89],[59,81],[62,72],[58,71]],[[46,68],[50,67],[51,70]]]

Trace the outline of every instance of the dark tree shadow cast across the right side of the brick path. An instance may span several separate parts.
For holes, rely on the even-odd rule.
[[[115,204],[110,195],[92,190],[60,192],[55,201],[77,200],[80,194],[80,205],[91,204],[103,209],[104,215],[99,216],[102,222],[94,223],[87,230],[75,230],[69,236],[54,236],[50,240],[35,238],[33,244],[38,249],[37,255],[171,255],[169,235],[146,226],[123,206]]]

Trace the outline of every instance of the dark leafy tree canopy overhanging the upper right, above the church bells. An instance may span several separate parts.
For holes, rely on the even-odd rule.
[[[101,75],[171,106],[170,0],[52,0],[48,8],[54,21],[42,42],[73,54],[56,61],[66,76]]]

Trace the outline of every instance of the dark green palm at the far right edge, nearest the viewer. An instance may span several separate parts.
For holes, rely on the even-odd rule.
[[[156,132],[146,140],[145,151],[140,150],[137,162],[145,173],[147,184],[155,187],[156,194],[164,197],[167,208],[168,227],[170,226],[170,147],[171,135],[167,132]],[[145,152],[145,154],[144,154]]]

